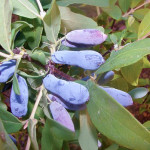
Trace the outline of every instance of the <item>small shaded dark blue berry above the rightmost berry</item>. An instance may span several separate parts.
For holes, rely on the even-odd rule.
[[[97,83],[99,85],[104,85],[104,84],[108,83],[109,81],[111,81],[113,78],[114,78],[114,72],[113,71],[108,71],[108,72],[103,73],[100,76]]]

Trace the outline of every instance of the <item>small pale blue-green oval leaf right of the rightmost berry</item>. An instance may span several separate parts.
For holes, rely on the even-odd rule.
[[[137,88],[131,90],[129,92],[129,94],[131,95],[131,97],[133,99],[138,99],[138,98],[144,97],[148,92],[149,92],[149,90],[147,88],[137,87]]]

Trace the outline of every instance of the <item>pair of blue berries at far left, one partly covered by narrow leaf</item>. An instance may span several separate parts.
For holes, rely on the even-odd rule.
[[[16,60],[5,61],[0,65],[0,83],[7,82],[10,77],[14,75],[16,67]],[[17,95],[14,91],[14,87],[12,86],[11,94],[10,94],[10,107],[11,112],[17,116],[22,117],[27,113],[27,105],[28,105],[28,86],[26,80],[19,76],[18,74],[17,80],[20,90],[20,95]]]

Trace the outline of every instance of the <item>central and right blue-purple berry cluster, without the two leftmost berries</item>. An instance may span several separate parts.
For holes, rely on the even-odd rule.
[[[74,30],[66,35],[66,39],[62,41],[62,44],[72,48],[91,47],[101,44],[106,38],[107,35],[96,29]],[[51,59],[57,64],[75,65],[86,70],[96,70],[105,62],[102,55],[93,50],[56,51],[51,55]],[[105,84],[113,76],[113,71],[106,72],[100,77],[98,83],[100,85]],[[89,78],[85,77],[82,80],[86,81]],[[49,108],[53,119],[74,132],[74,125],[66,109],[81,110],[86,108],[86,102],[90,98],[88,89],[81,84],[56,78],[52,74],[48,74],[44,78],[43,84],[51,92],[49,98],[52,103]],[[132,104],[132,98],[129,94],[114,88],[99,87],[121,105],[128,106]]]

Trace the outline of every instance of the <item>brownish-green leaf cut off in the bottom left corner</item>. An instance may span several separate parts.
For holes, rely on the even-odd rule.
[[[8,136],[0,119],[0,148],[1,150],[17,150],[16,145]]]

